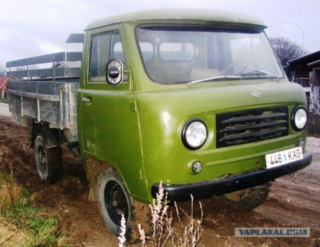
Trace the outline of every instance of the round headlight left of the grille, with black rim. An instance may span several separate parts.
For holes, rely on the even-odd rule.
[[[204,122],[199,118],[191,118],[182,128],[182,143],[187,149],[198,149],[204,144],[206,134],[207,130]]]

